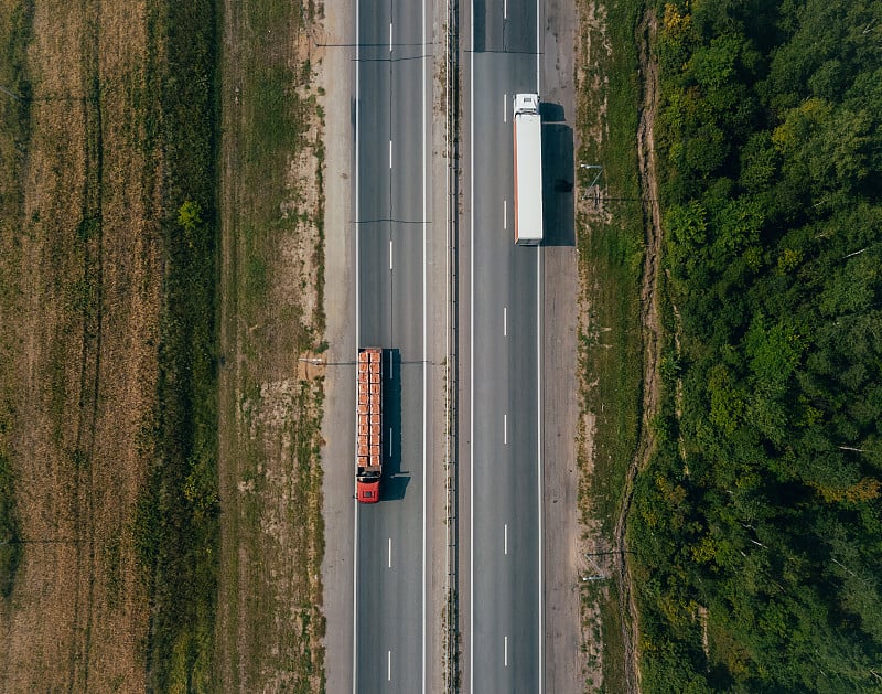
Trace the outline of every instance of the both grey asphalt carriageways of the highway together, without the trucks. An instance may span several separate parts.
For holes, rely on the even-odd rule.
[[[443,387],[428,377],[427,266],[447,233],[431,223],[432,18],[415,3],[356,8],[356,343],[386,350],[389,434],[383,500],[355,510],[353,692],[424,693],[438,684],[426,481],[441,462],[429,433]],[[542,688],[541,249],[514,245],[512,98],[539,92],[539,11],[488,1],[471,19],[463,674],[471,692],[533,694]]]

